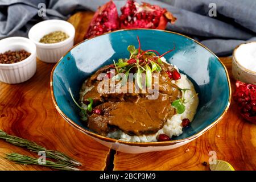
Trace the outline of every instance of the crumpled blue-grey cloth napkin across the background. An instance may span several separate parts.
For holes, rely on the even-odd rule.
[[[96,11],[98,6],[106,2],[108,0],[0,0],[0,39],[7,36],[27,36],[31,26],[40,20],[67,19],[76,11]],[[119,10],[126,0],[114,2]],[[177,17],[176,23],[169,23],[167,30],[191,36],[219,56],[230,55],[238,44],[256,41],[255,0],[143,2],[164,7]],[[46,16],[38,16],[39,3],[46,5]],[[212,9],[212,6],[209,7],[210,3],[217,6],[216,17],[209,16],[209,10]]]

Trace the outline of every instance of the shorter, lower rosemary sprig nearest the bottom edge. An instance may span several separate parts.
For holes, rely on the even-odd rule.
[[[79,171],[78,168],[69,166],[67,164],[61,164],[46,160],[46,163],[39,163],[37,158],[31,158],[27,155],[21,155],[17,153],[6,154],[6,159],[11,160],[17,164],[35,164],[39,166],[51,167],[53,169],[66,170],[66,171]]]

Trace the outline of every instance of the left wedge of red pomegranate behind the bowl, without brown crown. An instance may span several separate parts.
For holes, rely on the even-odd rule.
[[[86,32],[85,39],[119,29],[117,7],[113,1],[98,8]]]

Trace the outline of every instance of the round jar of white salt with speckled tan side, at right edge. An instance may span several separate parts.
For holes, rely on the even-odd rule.
[[[256,42],[244,43],[234,49],[232,73],[236,80],[256,84]]]

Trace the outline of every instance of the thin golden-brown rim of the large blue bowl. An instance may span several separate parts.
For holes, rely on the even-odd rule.
[[[63,111],[61,111],[61,109],[59,108],[59,106],[57,105],[57,102],[55,100],[55,95],[53,93],[53,72],[55,71],[55,68],[57,67],[57,65],[60,63],[60,61],[63,59],[64,56],[66,56],[68,54],[68,52],[71,51],[71,49],[75,48],[76,46],[79,46],[81,43],[84,43],[90,39],[93,38],[89,38],[86,40],[83,40],[82,42],[76,44],[75,46],[73,46],[71,49],[69,49],[69,51],[67,53],[65,53],[64,56],[62,56],[60,58],[59,61],[57,61],[57,63],[55,64],[55,66],[52,68],[51,71],[51,79],[50,79],[50,88],[51,88],[51,96],[52,96],[52,100],[53,100],[53,104],[56,107],[56,110],[60,113],[60,115],[65,119],[65,121],[67,121],[71,126],[75,127],[76,129],[79,129],[80,131],[82,131],[82,133],[88,134],[90,137],[96,138],[96,139],[100,139],[100,140],[104,140],[104,142],[111,142],[111,143],[119,143],[119,144],[126,144],[129,146],[138,146],[138,147],[148,147],[148,146],[170,146],[170,145],[174,145],[177,143],[181,143],[181,142],[186,142],[187,140],[193,140],[196,139],[197,137],[200,137],[201,135],[203,135],[206,131],[208,131],[210,128],[212,128],[214,125],[216,125],[218,122],[221,121],[221,119],[224,117],[224,115],[226,114],[226,112],[229,109],[230,106],[230,102],[231,102],[231,95],[232,95],[232,89],[231,89],[231,84],[230,84],[230,79],[229,79],[229,73],[225,67],[225,65],[221,62],[221,60],[218,58],[218,56],[216,56],[212,51],[210,51],[210,49],[208,49],[207,47],[205,47],[203,44],[197,42],[195,39],[189,38],[186,35],[183,34],[179,34],[177,32],[173,32],[173,31],[167,31],[167,30],[154,30],[154,29],[147,29],[147,28],[133,28],[133,29],[122,29],[122,30],[116,30],[116,31],[112,31],[112,32],[106,32],[105,34],[99,35],[99,36],[103,36],[106,34],[112,34],[113,32],[120,32],[120,31],[133,31],[133,30],[146,30],[146,31],[161,31],[161,32],[167,32],[170,34],[176,34],[176,35],[180,35],[180,36],[184,36],[185,38],[188,38],[190,40],[193,40],[193,42],[199,44],[200,46],[204,47],[205,49],[207,49],[207,51],[209,51],[210,53],[212,53],[212,55],[214,55],[216,57],[216,59],[221,63],[222,67],[225,70],[226,73],[226,78],[228,80],[228,88],[229,88],[229,100],[228,100],[228,104],[226,105],[225,110],[221,113],[220,117],[218,117],[215,121],[213,121],[209,126],[205,127],[203,130],[199,131],[198,133],[192,135],[191,137],[187,137],[187,138],[183,138],[183,139],[177,139],[177,140],[169,140],[166,142],[126,142],[123,140],[118,140],[118,139],[114,139],[114,138],[108,138],[108,137],[103,137],[99,134],[94,133],[93,131],[89,131],[84,129],[83,127],[77,125],[77,123],[75,123],[74,121],[72,121],[72,119],[68,118],[67,115],[65,115],[63,113]],[[98,36],[97,36],[98,37]]]

